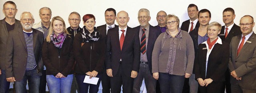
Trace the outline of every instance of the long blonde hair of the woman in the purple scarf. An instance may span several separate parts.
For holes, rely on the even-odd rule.
[[[48,42],[48,43],[51,41],[50,35],[51,35],[52,32],[53,32],[53,22],[54,22],[55,20],[62,21],[62,23],[63,23],[63,25],[64,25],[64,33],[70,35],[70,34],[68,33],[68,30],[66,29],[66,24],[65,24],[64,20],[63,20],[60,16],[53,17],[53,18],[52,18],[52,21],[51,21],[51,25],[50,25],[50,29],[49,29],[48,35],[47,35],[47,37],[46,37],[46,42]]]

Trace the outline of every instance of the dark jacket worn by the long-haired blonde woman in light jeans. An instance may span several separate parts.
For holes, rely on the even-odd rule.
[[[47,68],[46,75],[56,76],[60,72],[67,77],[69,74],[73,74],[74,56],[72,43],[70,35],[67,35],[60,49],[55,47],[52,41],[50,43],[46,42],[46,40],[44,41],[42,58]]]

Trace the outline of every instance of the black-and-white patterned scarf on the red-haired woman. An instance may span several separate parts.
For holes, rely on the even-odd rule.
[[[84,26],[82,31],[82,37],[83,37],[82,43],[98,41],[99,36],[100,36],[100,32],[96,29],[96,27],[94,27],[94,31],[90,33]]]

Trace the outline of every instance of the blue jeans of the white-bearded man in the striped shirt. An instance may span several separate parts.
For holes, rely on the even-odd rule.
[[[39,93],[40,75],[37,73],[36,68],[34,70],[26,70],[21,81],[15,81],[15,92],[26,93],[26,85],[28,81],[29,93]]]

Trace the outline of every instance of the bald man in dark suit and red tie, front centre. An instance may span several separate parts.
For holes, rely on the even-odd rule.
[[[132,93],[133,79],[140,68],[140,40],[138,31],[127,26],[128,13],[120,11],[119,26],[108,30],[106,41],[106,72],[111,77],[111,93]]]

